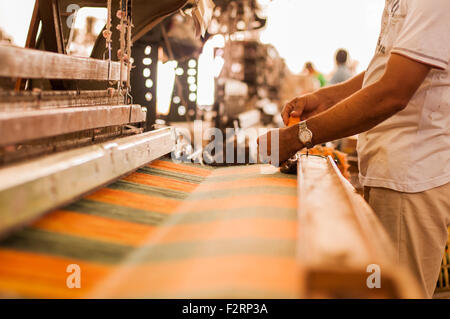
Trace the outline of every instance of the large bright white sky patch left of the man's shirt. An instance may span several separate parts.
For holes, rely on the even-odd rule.
[[[261,0],[267,2],[267,0]],[[293,72],[307,61],[330,73],[345,48],[366,69],[372,59],[385,0],[273,0],[261,40],[272,43]]]

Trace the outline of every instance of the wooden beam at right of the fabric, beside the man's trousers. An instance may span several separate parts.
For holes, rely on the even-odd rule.
[[[396,264],[383,226],[331,157],[298,161],[298,265],[306,298],[420,298],[409,271]],[[370,289],[370,265],[381,269]]]

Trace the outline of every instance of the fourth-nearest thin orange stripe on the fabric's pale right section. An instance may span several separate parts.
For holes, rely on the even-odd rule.
[[[248,187],[297,187],[297,181],[294,179],[280,178],[280,177],[264,177],[264,178],[248,178],[240,179],[238,181],[225,182],[206,182],[199,186],[198,192],[239,189]]]

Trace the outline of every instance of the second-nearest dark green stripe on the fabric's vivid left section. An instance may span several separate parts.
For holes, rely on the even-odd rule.
[[[87,215],[107,217],[146,225],[158,225],[168,218],[168,215],[166,214],[96,202],[88,199],[82,199],[64,209]]]

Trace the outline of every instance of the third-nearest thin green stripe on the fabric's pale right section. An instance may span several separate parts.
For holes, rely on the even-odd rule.
[[[203,188],[202,184],[202,188]],[[205,185],[206,186],[206,185]],[[260,186],[260,187],[243,187],[239,189],[224,189],[205,192],[194,192],[189,196],[189,200],[202,200],[202,199],[223,199],[233,200],[235,196],[242,195],[290,195],[296,196],[297,189],[293,187],[282,186]]]

